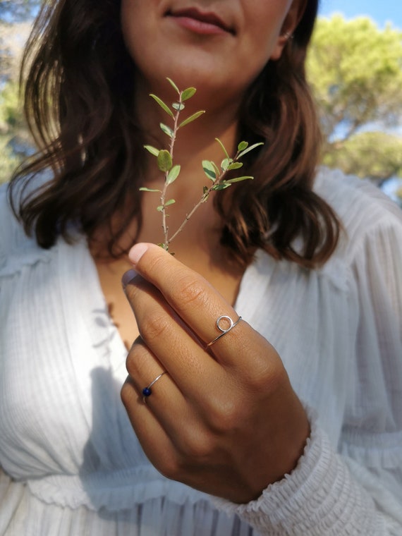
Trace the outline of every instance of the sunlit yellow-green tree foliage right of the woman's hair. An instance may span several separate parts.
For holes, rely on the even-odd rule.
[[[402,32],[370,18],[319,19],[307,58],[324,164],[381,183],[402,176]]]

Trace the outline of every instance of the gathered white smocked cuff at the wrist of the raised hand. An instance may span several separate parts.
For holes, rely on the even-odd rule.
[[[315,413],[307,409],[307,414],[311,434],[291,474],[248,504],[224,499],[214,499],[214,503],[237,514],[261,535],[382,535],[384,527],[372,497],[353,480],[317,425]]]

